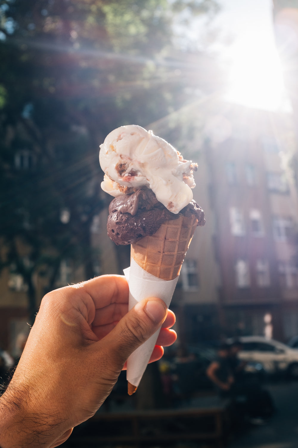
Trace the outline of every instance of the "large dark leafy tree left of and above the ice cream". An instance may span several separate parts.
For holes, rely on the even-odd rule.
[[[185,9],[214,13],[217,3],[0,1],[2,266],[23,277],[31,321],[37,276],[52,289],[64,258],[95,274],[90,226],[109,200],[98,163],[105,135],[211,88],[200,53],[173,45]]]

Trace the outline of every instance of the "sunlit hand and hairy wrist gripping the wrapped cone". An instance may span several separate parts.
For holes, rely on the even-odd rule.
[[[122,276],[101,276],[43,299],[13,378],[0,398],[0,446],[56,447],[95,414],[126,359],[163,324],[151,361],[176,333],[175,315],[150,298],[128,312]]]

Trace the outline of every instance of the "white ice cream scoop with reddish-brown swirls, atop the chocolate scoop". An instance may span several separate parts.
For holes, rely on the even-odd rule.
[[[105,172],[101,188],[119,196],[143,186],[172,213],[193,199],[193,171],[197,164],[184,160],[163,138],[141,126],[114,129],[100,146],[99,161]]]

